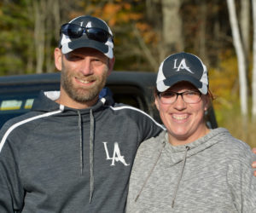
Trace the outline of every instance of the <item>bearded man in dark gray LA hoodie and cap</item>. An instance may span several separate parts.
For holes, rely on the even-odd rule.
[[[123,212],[141,141],[162,130],[144,112],[99,99],[113,70],[113,33],[91,16],[61,26],[60,92],[0,131],[0,212]]]

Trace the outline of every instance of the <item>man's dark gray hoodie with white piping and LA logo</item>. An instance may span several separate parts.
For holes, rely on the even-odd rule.
[[[76,110],[46,95],[58,94],[0,131],[0,212],[124,212],[137,147],[160,124],[105,99]]]

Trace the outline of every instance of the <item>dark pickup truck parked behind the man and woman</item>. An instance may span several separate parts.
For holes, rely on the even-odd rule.
[[[59,90],[60,77],[60,72],[0,77],[0,128],[9,118],[28,112],[40,90]],[[112,72],[106,86],[114,101],[137,107],[161,123],[154,107],[155,80],[153,72]],[[207,112],[207,124],[217,127],[213,108]]]

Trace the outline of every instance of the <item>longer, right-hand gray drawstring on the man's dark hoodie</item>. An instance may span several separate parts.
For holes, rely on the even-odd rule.
[[[92,110],[90,109],[90,199],[89,203],[91,203],[93,191],[94,191],[94,173],[93,173],[93,159],[94,159],[94,117]]]

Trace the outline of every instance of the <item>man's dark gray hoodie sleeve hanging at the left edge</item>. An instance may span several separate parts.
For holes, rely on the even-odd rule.
[[[4,129],[4,128],[3,128]],[[20,211],[24,192],[20,182],[17,148],[5,139],[0,131],[0,212]]]

